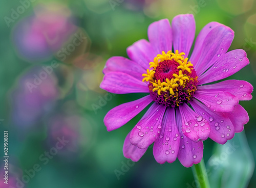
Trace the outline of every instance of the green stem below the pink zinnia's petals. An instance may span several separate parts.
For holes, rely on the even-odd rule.
[[[192,171],[195,180],[198,180],[197,182],[199,182],[197,183],[198,188],[210,188],[203,158],[199,164],[192,166]]]

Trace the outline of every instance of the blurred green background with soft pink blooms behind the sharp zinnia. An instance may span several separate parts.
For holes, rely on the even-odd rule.
[[[21,0],[1,1],[0,10],[0,126],[1,135],[9,133],[7,187],[195,187],[190,168],[178,160],[158,164],[152,147],[137,163],[123,156],[124,138],[145,110],[112,132],[103,124],[114,106],[144,96],[101,90],[105,61],[127,57],[126,47],[147,39],[153,21],[191,13],[196,35],[210,21],[229,26],[235,33],[229,50],[242,48],[250,60],[230,79],[256,84],[255,0]],[[244,132],[255,160],[255,97],[240,104],[250,117]],[[63,147],[56,149],[59,140]],[[204,141],[205,162],[213,148],[213,141]],[[244,154],[249,157],[250,150]],[[231,164],[234,169],[246,161],[240,160]],[[3,177],[2,159],[0,166]],[[249,166],[253,170],[253,162]],[[25,183],[18,183],[22,178]],[[256,187],[256,173],[248,187]]]

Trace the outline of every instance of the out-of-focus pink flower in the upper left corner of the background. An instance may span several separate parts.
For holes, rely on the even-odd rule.
[[[38,5],[34,14],[19,21],[12,41],[17,55],[29,62],[42,62],[53,57],[76,31],[70,10],[61,4]]]

